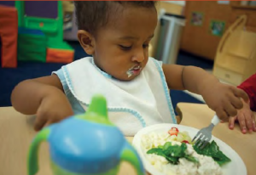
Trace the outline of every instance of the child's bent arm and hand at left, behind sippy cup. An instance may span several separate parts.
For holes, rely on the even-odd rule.
[[[11,101],[15,110],[26,115],[37,114],[36,130],[73,115],[56,75],[20,82],[11,94]]]

